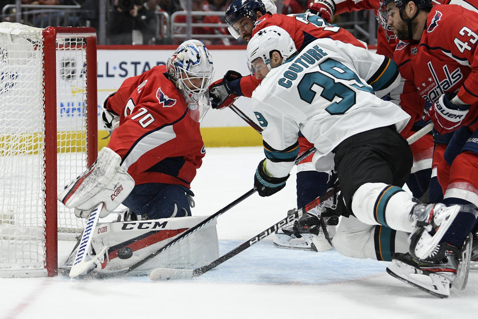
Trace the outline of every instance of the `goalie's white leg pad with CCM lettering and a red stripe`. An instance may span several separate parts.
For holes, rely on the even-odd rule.
[[[91,259],[96,267],[93,273],[115,273],[118,270],[126,269],[207,217],[99,223],[93,230],[92,238],[93,252],[98,255],[97,258]],[[105,247],[108,247],[106,251]],[[72,266],[71,256],[75,256],[75,254],[76,251],[73,251],[64,267]],[[211,221],[138,267],[135,273],[148,273],[151,269],[159,267],[194,269],[202,267],[218,257],[219,241],[216,221]]]

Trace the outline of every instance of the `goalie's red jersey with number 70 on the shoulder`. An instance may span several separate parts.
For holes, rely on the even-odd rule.
[[[108,99],[107,108],[120,116],[108,147],[136,184],[189,188],[206,152],[199,123],[187,114],[183,95],[165,72],[160,65],[130,77]]]

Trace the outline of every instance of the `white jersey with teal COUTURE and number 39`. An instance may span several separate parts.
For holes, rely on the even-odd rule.
[[[389,125],[400,132],[410,117],[379,98],[399,81],[389,58],[332,39],[317,39],[273,68],[252,93],[267,172],[289,173],[299,130],[315,145],[321,165],[328,158],[330,167],[327,156],[345,139]]]

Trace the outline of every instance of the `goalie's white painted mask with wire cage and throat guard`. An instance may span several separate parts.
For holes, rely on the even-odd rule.
[[[198,40],[179,45],[168,58],[167,70],[189,104],[189,115],[200,122],[210,107],[208,87],[214,76],[211,53]]]

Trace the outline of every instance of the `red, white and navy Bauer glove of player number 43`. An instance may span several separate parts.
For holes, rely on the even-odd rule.
[[[425,109],[424,111],[423,120],[431,120],[439,134],[450,133],[458,129],[470,110],[470,105],[455,104],[451,100],[449,94],[443,94],[429,110]]]

